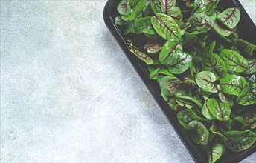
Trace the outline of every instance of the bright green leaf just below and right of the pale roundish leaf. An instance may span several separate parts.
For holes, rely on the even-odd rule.
[[[208,99],[208,109],[219,121],[225,122],[230,119],[231,108],[229,104],[219,102],[217,99]]]

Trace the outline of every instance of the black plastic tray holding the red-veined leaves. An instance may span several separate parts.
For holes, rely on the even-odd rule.
[[[176,113],[170,109],[167,102],[164,101],[161,97],[159,84],[156,80],[150,79],[149,71],[147,70],[147,65],[144,64],[143,61],[138,59],[135,55],[130,53],[128,44],[126,42],[125,36],[121,33],[121,29],[115,25],[115,17],[118,16],[118,12],[116,10],[116,6],[118,1],[116,0],[109,0],[106,3],[104,8],[103,17],[106,23],[106,26],[109,28],[112,35],[115,37],[116,41],[126,54],[127,58],[131,62],[132,66],[137,71],[138,75],[141,77],[144,84],[146,84],[148,90],[156,100],[156,102],[161,107],[161,110],[164,112],[165,116],[169,120],[170,124],[172,124],[174,130],[179,135],[179,138],[182,140],[185,147],[188,149],[189,153],[193,157],[195,162],[207,162],[206,153],[202,151],[202,149],[196,146],[191,138],[188,136],[187,131],[179,124],[178,119],[176,118]],[[254,5],[252,3],[252,5]],[[241,20],[238,24],[239,27],[239,34],[240,38],[245,39],[253,44],[255,44],[255,24],[252,22],[252,19],[246,13],[246,10],[242,7],[238,0],[222,0],[219,4],[220,7],[227,8],[227,7],[238,7],[241,12]],[[217,162],[240,162],[241,160],[245,159],[247,156],[250,156],[252,153],[256,151],[256,144],[253,147],[249,148],[249,150],[245,150],[240,153],[233,153],[231,150],[226,150],[225,154],[221,157],[220,160]]]

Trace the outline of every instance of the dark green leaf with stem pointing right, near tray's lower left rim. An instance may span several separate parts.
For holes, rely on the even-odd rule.
[[[188,126],[188,123],[193,121],[193,120],[198,120],[198,121],[205,121],[205,119],[202,119],[201,117],[197,116],[195,112],[191,109],[185,109],[183,111],[180,111],[177,114],[177,118],[180,124],[185,129],[189,129],[190,127]]]

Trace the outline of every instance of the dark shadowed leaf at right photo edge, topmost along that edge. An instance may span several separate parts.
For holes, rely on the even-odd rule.
[[[256,50],[256,45],[251,44],[248,41],[244,41],[243,39],[237,39],[237,48],[242,54],[247,54],[249,56],[253,55],[253,52]]]

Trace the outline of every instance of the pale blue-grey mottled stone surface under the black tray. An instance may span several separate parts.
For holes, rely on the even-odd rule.
[[[240,1],[255,22],[256,1]],[[105,3],[1,0],[1,162],[193,162]]]

